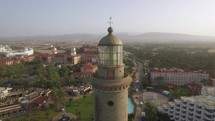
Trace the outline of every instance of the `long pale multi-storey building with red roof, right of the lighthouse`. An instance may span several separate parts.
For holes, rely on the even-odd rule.
[[[201,80],[208,78],[209,74],[204,72],[151,72],[152,84],[156,84],[159,80],[163,80],[165,83],[172,83],[175,85],[184,85],[192,82],[200,84]]]

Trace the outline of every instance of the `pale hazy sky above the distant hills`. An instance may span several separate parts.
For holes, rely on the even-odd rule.
[[[215,0],[0,0],[0,37],[115,32],[215,36]]]

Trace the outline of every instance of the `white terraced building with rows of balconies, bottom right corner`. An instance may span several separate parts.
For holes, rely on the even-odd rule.
[[[215,121],[215,96],[181,97],[158,107],[174,121]]]

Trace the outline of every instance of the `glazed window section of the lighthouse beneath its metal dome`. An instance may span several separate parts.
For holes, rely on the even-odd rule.
[[[123,63],[123,46],[99,46],[99,64],[117,66]]]

